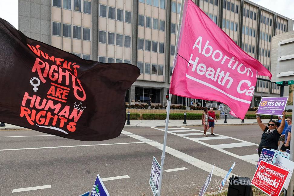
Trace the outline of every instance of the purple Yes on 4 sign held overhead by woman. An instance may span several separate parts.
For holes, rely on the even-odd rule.
[[[280,116],[285,110],[288,97],[263,97],[258,106],[258,114]]]

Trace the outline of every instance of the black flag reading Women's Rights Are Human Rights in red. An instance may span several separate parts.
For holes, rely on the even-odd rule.
[[[0,18],[0,121],[64,138],[120,135],[125,96],[140,75],[126,63],[81,59]]]

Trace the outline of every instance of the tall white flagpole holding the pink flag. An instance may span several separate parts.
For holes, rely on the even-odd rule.
[[[178,54],[178,41],[179,41],[179,37],[180,37],[180,30],[181,30],[180,27],[181,27],[181,24],[182,24],[184,2],[185,2],[185,0],[181,1],[179,27],[178,27],[178,31],[177,31],[177,41],[176,41],[176,45],[175,45],[174,64],[175,64],[175,58],[176,58],[176,56]],[[166,146],[166,137],[167,137],[167,131],[168,131],[169,112],[171,110],[171,100],[172,100],[172,94],[169,93],[157,196],[160,196],[161,184],[162,184],[162,174],[163,174],[163,171],[164,171],[163,170],[163,164],[164,164],[164,158],[165,158],[165,146]]]

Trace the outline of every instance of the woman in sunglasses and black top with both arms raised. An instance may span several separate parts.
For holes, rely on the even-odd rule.
[[[265,149],[275,149],[278,150],[278,142],[283,132],[285,126],[285,111],[282,113],[283,119],[279,128],[277,127],[277,122],[275,120],[269,121],[267,126],[265,126],[260,119],[260,116],[257,114],[258,111],[255,111],[256,120],[258,125],[260,126],[263,134],[261,136],[261,142],[258,146],[258,156],[260,156],[263,148]]]

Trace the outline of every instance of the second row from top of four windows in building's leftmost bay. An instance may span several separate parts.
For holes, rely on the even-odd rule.
[[[75,39],[81,39],[81,27],[73,25],[73,28],[71,28],[71,24],[63,24],[63,37],[68,37]],[[73,29],[73,33],[72,32]],[[52,35],[58,35],[61,36],[61,23],[59,22],[52,22]],[[91,40],[91,29],[83,27],[83,40]]]

